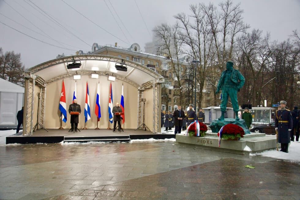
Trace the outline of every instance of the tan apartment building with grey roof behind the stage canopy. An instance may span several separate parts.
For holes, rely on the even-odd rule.
[[[77,54],[84,53],[82,51],[78,51]],[[179,88],[178,79],[175,75],[174,70],[172,70],[170,58],[163,55],[143,52],[141,51],[140,45],[137,43],[133,43],[129,48],[119,47],[117,43],[115,43],[114,45],[104,46],[100,46],[97,43],[94,43],[92,45],[92,52],[89,52],[89,54],[110,55],[126,60],[131,60],[145,67],[148,67],[163,76],[164,83],[161,85],[161,110],[163,111],[174,111],[178,108],[180,92],[186,92],[189,84],[191,84],[193,80],[193,74],[190,74],[191,60],[189,56],[185,56],[181,60],[176,61],[176,64],[179,65],[180,69],[178,73],[181,79],[180,83],[182,86],[181,88]],[[198,88],[196,89],[197,92],[200,92]],[[203,107],[206,105],[206,101],[210,102],[210,97],[207,97],[206,94],[208,94],[209,96],[209,93],[204,92],[203,101],[201,102],[201,105],[203,105]],[[187,108],[189,103],[192,102],[186,102],[186,105],[182,106],[184,108]]]

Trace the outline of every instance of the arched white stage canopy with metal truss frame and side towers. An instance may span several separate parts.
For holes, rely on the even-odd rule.
[[[81,62],[80,68],[67,69],[67,65],[72,62]],[[118,71],[115,68],[116,63],[127,65],[127,71]],[[114,76],[116,80],[121,80],[132,85],[137,89],[137,104],[130,107],[137,108],[137,127],[142,122],[142,98],[152,100],[148,106],[153,106],[153,127],[148,128],[153,133],[160,132],[160,84],[163,83],[163,77],[153,70],[138,64],[136,62],[108,55],[74,55],[61,57],[41,63],[37,66],[24,71],[25,77],[25,97],[24,97],[24,124],[23,134],[31,135],[35,120],[40,125],[45,125],[46,108],[46,89],[47,86],[55,81],[73,77],[75,74],[90,75],[99,74],[99,76]],[[73,79],[72,79],[73,80]],[[107,80],[107,79],[106,79]],[[109,81],[106,81],[109,82]],[[38,90],[38,91],[35,91]],[[39,93],[39,102],[35,102],[35,93]],[[145,96],[147,95],[147,96]],[[135,97],[132,97],[135,98]],[[136,102],[136,101],[135,101]],[[115,101],[114,101],[115,103]],[[148,102],[149,103],[149,102]],[[39,104],[39,106],[37,106]],[[58,106],[57,106],[58,108]],[[84,106],[81,106],[84,111]],[[67,108],[68,109],[68,108]],[[92,109],[91,109],[92,110]],[[152,110],[152,109],[151,109]],[[34,114],[32,114],[34,113]],[[38,113],[38,114],[37,114]],[[92,111],[91,111],[92,113]],[[37,115],[37,116],[34,116]],[[47,115],[48,116],[48,115]],[[40,127],[38,125],[38,127]],[[137,128],[136,127],[136,128]],[[47,127],[46,127],[47,128]],[[51,127],[50,127],[51,128]]]

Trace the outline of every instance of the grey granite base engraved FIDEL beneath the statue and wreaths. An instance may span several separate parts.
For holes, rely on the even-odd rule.
[[[276,136],[264,133],[244,135],[240,140],[221,140],[217,133],[207,132],[205,137],[188,136],[185,133],[176,135],[176,142],[181,145],[211,149],[237,154],[260,153],[268,149],[276,149]]]

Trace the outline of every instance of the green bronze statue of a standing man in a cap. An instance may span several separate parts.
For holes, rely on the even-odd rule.
[[[235,112],[235,120],[240,120],[238,118],[238,92],[243,87],[245,83],[245,78],[243,75],[236,69],[233,68],[233,62],[227,61],[226,70],[221,74],[216,94],[222,90],[222,102],[221,102],[221,116],[218,120],[224,121],[224,113],[227,108],[228,97],[230,96],[232,108]]]

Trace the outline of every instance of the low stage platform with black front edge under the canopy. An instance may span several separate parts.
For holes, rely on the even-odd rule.
[[[166,139],[174,138],[174,134],[153,134],[144,129],[124,129],[121,132],[106,129],[87,129],[81,132],[69,132],[69,129],[39,129],[32,135],[23,136],[22,132],[6,137],[6,144],[35,144],[35,143],[59,143],[59,142],[129,142],[131,139]]]

